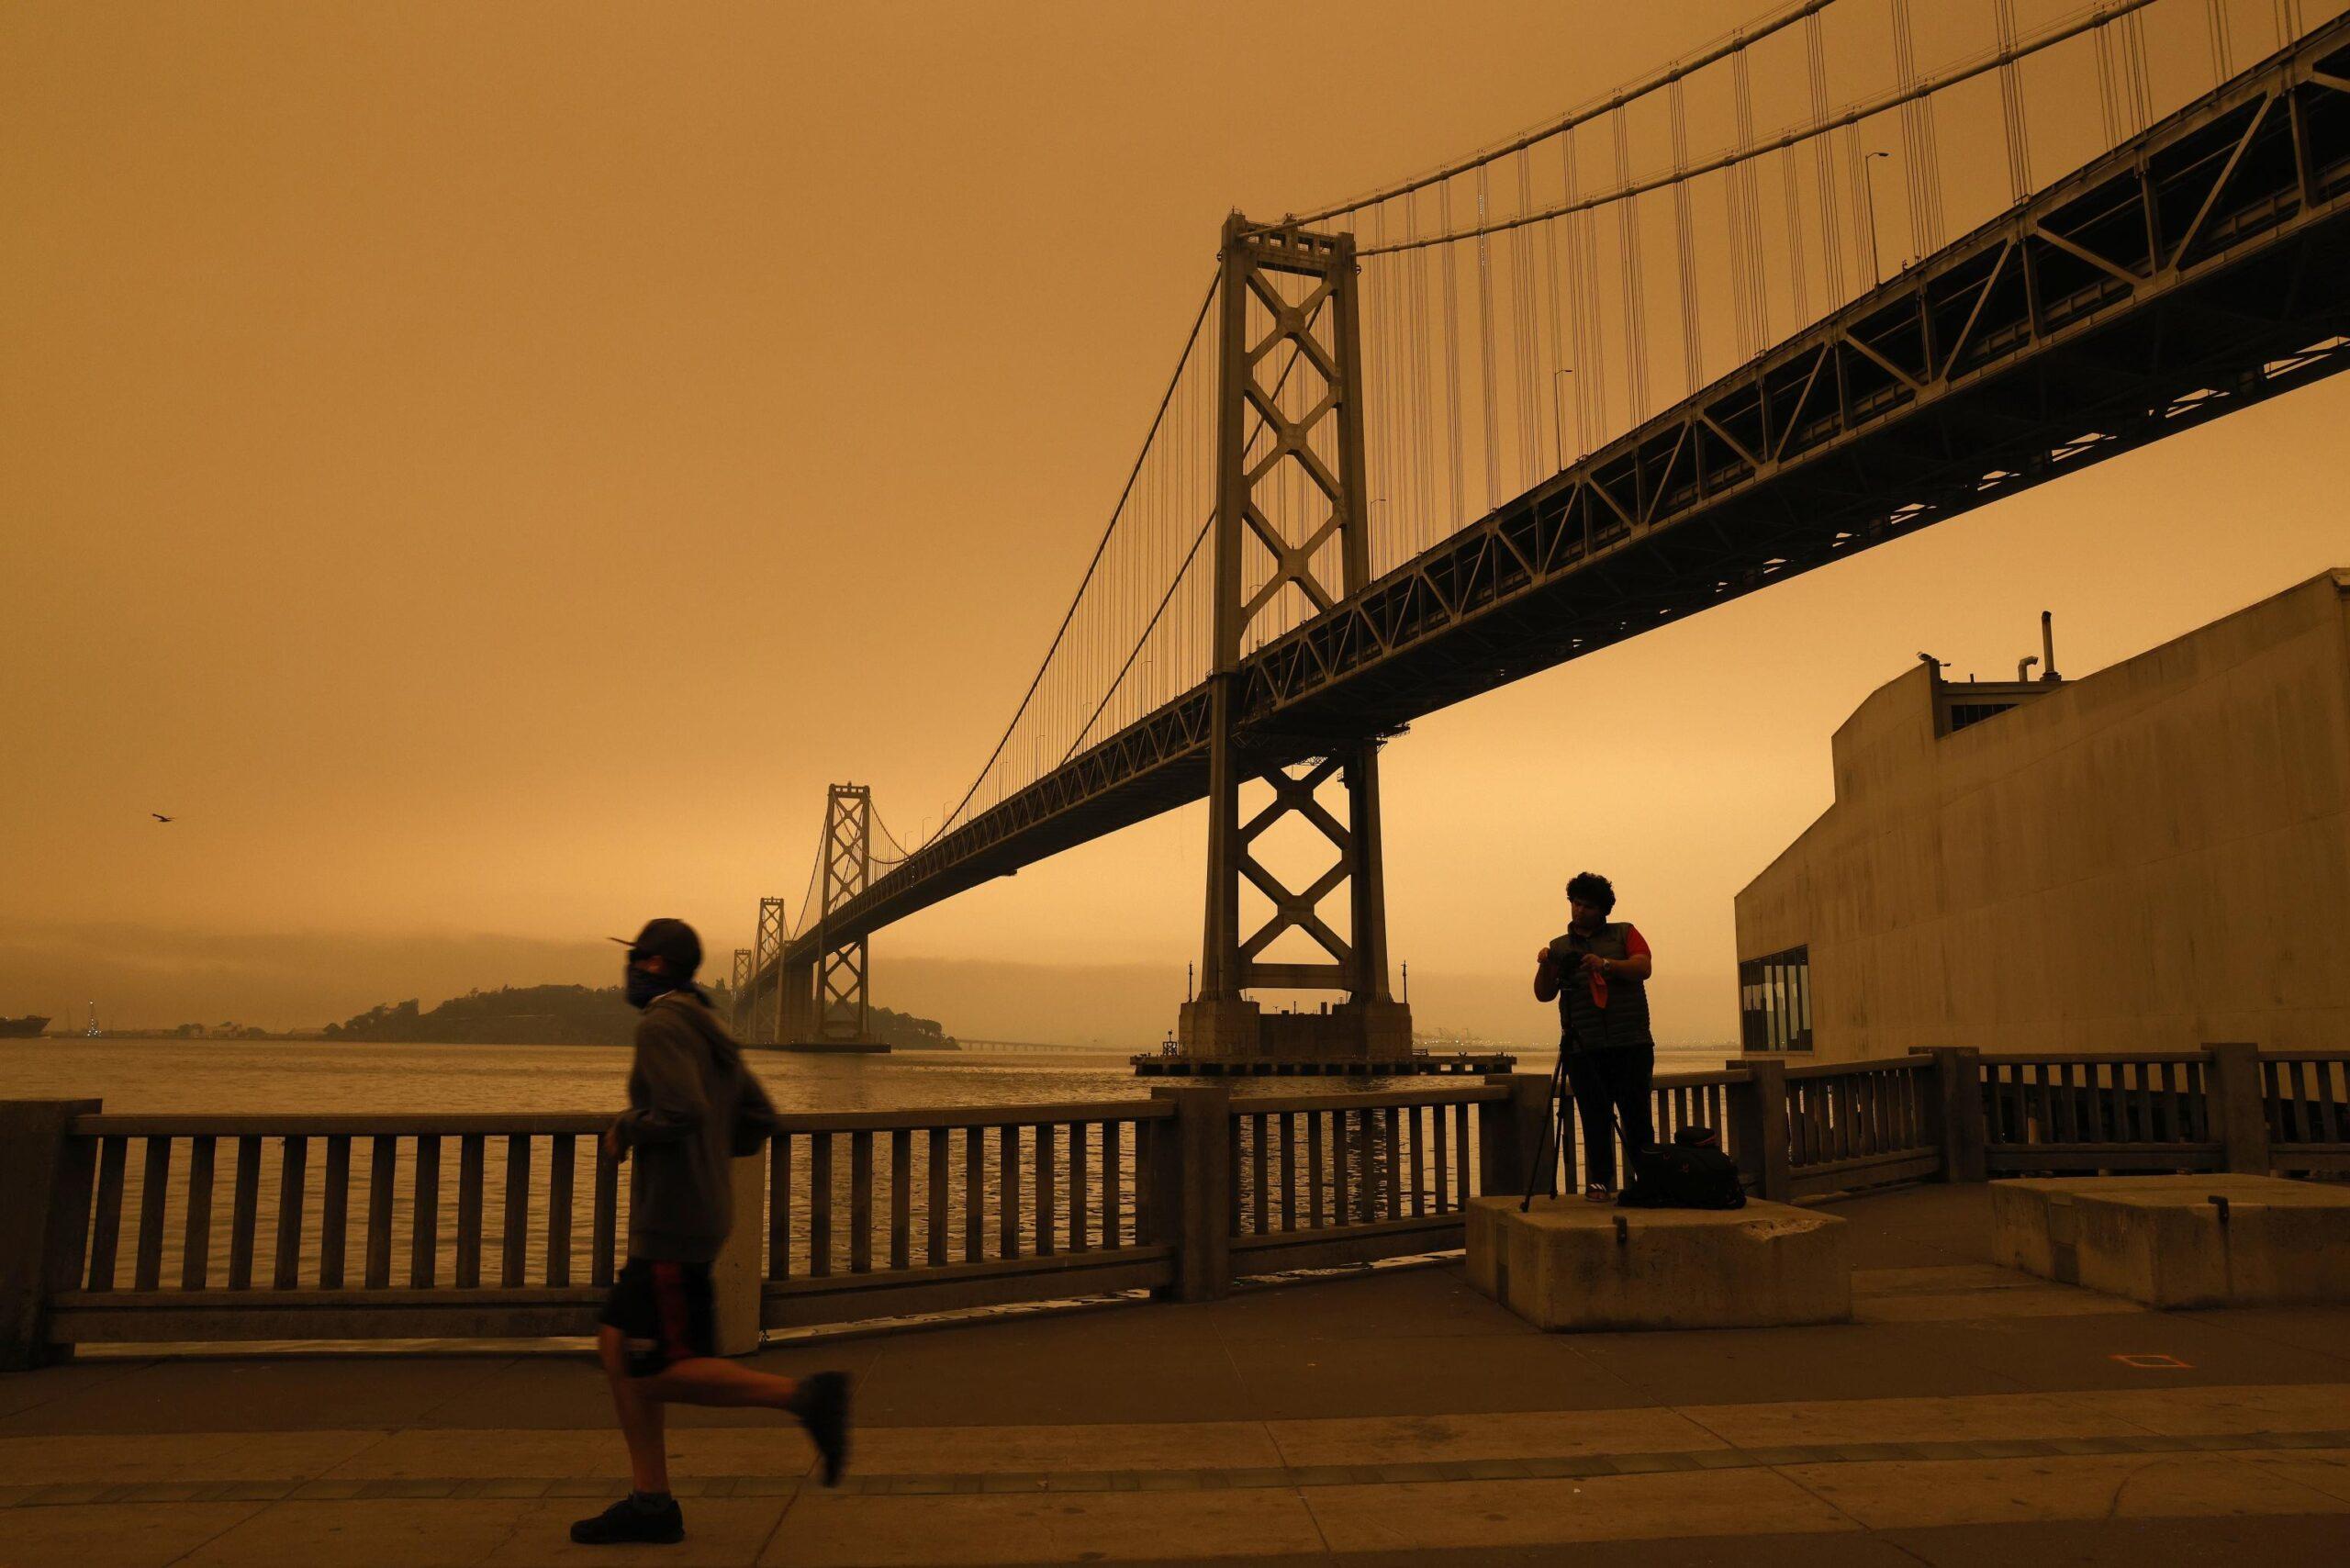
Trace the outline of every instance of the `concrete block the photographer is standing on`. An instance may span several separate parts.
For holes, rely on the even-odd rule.
[[[1622,1229],[1619,1222],[1622,1220]],[[1469,1279],[1537,1328],[1770,1328],[1852,1319],[1845,1222],[1786,1204],[1612,1208],[1471,1199]]]

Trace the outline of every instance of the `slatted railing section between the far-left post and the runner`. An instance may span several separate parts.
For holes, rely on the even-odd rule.
[[[66,1244],[52,1333],[592,1333],[625,1225],[606,1121],[73,1114],[49,1194]]]

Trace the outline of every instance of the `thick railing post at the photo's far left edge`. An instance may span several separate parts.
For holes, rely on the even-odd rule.
[[[96,1145],[70,1135],[101,1100],[0,1100],[0,1373],[73,1356],[49,1345],[49,1302],[70,1291],[89,1232]]]

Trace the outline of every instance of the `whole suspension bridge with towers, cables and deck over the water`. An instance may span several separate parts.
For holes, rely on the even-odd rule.
[[[1412,719],[2350,364],[2317,9],[1800,0],[1231,214],[1001,738],[912,846],[830,790],[736,952],[745,1034],[862,1039],[874,931],[1208,799],[1184,1053],[1405,1056],[1377,752]],[[1267,851],[1300,830],[1335,853],[1302,884]]]

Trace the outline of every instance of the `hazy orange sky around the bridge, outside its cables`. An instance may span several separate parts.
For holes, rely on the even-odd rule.
[[[827,780],[900,835],[968,783],[1227,207],[1755,9],[0,9],[0,1013],[604,978],[651,912],[747,943]],[[2249,59],[2270,7],[2235,9]],[[1511,992],[1591,865],[1690,980],[1661,1032],[1730,1037],[1730,898],[1868,689],[2014,670],[2040,609],[2080,675],[2350,562],[2345,425],[2319,386],[1415,724],[1396,957],[1539,1032]],[[996,1032],[891,964],[1156,966],[1173,1023],[1201,842],[1173,813],[891,929],[877,997]]]

